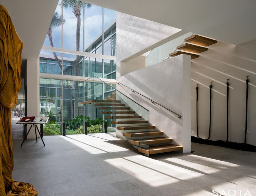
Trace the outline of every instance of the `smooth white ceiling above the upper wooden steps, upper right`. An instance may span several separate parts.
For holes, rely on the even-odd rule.
[[[235,45],[256,39],[256,0],[85,1]]]

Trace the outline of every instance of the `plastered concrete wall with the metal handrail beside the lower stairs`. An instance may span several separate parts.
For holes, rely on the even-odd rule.
[[[173,138],[173,144],[183,145],[185,153],[190,152],[189,55],[180,55],[175,59],[133,71],[117,78],[117,81],[182,115],[179,119],[177,115],[152,104],[150,100],[127,87],[116,85],[117,90],[149,110],[149,123],[155,125],[156,130],[163,131],[165,136]],[[137,112],[134,107],[132,110]],[[140,108],[138,110],[140,111]]]

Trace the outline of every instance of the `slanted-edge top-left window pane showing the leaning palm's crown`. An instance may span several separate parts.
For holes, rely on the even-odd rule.
[[[61,48],[61,0],[59,0],[52,17],[51,24],[44,40],[44,46]]]

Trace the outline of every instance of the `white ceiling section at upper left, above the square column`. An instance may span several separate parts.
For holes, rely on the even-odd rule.
[[[23,44],[22,59],[37,60],[58,0],[0,0]]]

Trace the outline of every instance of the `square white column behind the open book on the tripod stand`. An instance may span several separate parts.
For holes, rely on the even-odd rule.
[[[27,116],[39,116],[39,58],[27,60]],[[37,125],[39,127],[39,125]],[[27,130],[30,128],[28,124]],[[37,134],[37,137],[39,135]],[[35,139],[35,128],[32,127],[27,139]]]

